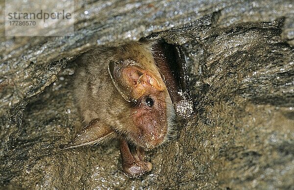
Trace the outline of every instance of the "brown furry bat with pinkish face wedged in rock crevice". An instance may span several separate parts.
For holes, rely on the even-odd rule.
[[[142,40],[94,48],[75,62],[73,92],[84,127],[65,149],[118,139],[124,174],[149,172],[145,150],[171,139],[175,115],[193,114],[181,47]]]

